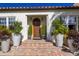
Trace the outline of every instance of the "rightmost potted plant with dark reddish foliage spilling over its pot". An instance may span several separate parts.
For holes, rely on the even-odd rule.
[[[68,46],[70,48],[70,51],[74,53],[76,49],[78,48],[78,33],[76,30],[70,30],[68,34]]]

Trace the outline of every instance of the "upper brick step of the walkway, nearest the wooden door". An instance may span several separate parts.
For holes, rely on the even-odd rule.
[[[27,40],[22,43],[21,48],[33,49],[33,48],[53,48],[53,44],[51,42],[46,42],[45,40]]]

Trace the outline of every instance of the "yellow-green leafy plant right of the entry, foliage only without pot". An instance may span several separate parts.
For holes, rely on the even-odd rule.
[[[53,21],[54,31],[53,34],[57,35],[59,33],[65,34],[68,32],[68,28],[64,26],[63,22],[60,19],[55,19]]]

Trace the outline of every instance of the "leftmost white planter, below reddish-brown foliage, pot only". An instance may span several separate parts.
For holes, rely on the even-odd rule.
[[[3,52],[8,52],[10,49],[10,39],[7,38],[7,39],[2,39],[1,41],[1,50]]]

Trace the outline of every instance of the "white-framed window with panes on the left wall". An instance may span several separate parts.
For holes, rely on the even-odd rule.
[[[15,17],[0,17],[0,25],[9,27],[15,21]]]

